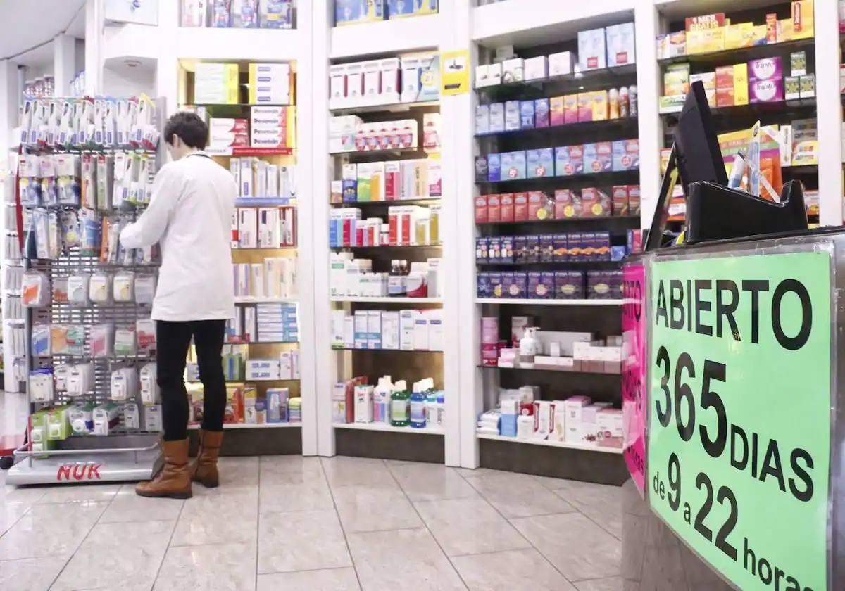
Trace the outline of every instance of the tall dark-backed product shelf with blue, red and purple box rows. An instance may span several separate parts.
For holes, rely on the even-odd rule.
[[[624,480],[620,264],[641,241],[633,20],[568,23],[542,45],[527,31],[477,40],[466,328],[480,347],[474,367],[462,360],[475,419],[461,428],[482,467]]]

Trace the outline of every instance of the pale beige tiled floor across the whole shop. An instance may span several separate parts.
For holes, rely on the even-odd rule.
[[[0,475],[0,589],[622,588],[613,486],[293,456],[223,458],[221,478],[183,502]]]

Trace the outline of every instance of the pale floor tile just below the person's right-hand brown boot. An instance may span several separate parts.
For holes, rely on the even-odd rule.
[[[170,545],[254,543],[257,535],[257,496],[194,496],[182,508]]]

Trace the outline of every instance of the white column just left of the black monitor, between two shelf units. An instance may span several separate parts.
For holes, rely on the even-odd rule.
[[[638,2],[634,8],[636,31],[636,86],[640,136],[640,225],[648,228],[660,192],[660,149],[663,124],[657,110],[662,84],[657,63],[655,39],[659,33],[657,9],[652,3]]]

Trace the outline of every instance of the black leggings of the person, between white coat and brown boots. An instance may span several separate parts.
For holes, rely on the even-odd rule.
[[[205,431],[222,431],[226,414],[226,379],[221,353],[226,333],[225,320],[194,320],[155,323],[158,341],[158,385],[161,388],[161,414],[164,439],[172,442],[188,436],[188,392],[185,390],[185,358],[191,337],[203,382],[203,424]]]

